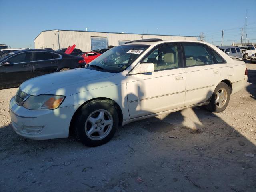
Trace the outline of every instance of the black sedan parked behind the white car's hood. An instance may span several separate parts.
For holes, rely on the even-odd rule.
[[[30,49],[0,56],[0,89],[18,87],[44,74],[84,67],[84,58],[44,49]]]

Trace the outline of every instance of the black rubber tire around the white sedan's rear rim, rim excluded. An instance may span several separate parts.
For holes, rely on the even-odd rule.
[[[226,103],[222,107],[218,107],[217,104],[215,103],[216,94],[220,89],[226,90],[226,93],[227,93]],[[210,103],[206,105],[206,109],[210,112],[220,113],[226,109],[226,107],[228,106],[229,100],[230,100],[230,87],[226,83],[220,82],[212,94]]]

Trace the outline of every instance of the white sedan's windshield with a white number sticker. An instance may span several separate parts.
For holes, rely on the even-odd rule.
[[[90,62],[88,69],[118,73],[130,66],[149,46],[122,45],[111,48]]]

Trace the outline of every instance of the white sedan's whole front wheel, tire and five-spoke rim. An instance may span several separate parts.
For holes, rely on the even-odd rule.
[[[76,117],[76,134],[86,146],[95,147],[108,142],[118,128],[115,107],[102,100],[82,106]]]

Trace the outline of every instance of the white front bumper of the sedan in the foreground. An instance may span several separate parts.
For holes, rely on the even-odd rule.
[[[10,116],[14,131],[35,140],[68,137],[69,125],[75,106],[55,110],[28,110],[10,100]]]

